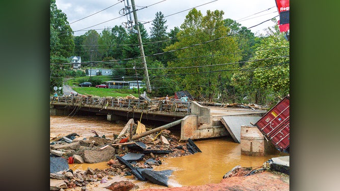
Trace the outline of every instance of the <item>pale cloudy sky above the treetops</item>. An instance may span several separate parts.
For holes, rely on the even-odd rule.
[[[119,0],[56,0],[58,9],[67,15],[75,31],[74,36],[83,35],[90,29],[101,33],[105,27],[122,25],[128,19],[120,15],[126,5],[126,1]],[[196,8],[203,15],[206,15],[207,10],[222,10],[224,19],[231,18],[246,27],[275,16],[276,20],[279,19],[275,0],[135,0],[135,5],[139,9],[138,20],[141,23],[147,22],[144,26],[149,35],[152,20],[159,11],[165,16],[167,31],[175,26],[180,27],[191,8]],[[272,25],[272,21],[267,21],[250,29],[254,34],[264,34],[263,29]]]

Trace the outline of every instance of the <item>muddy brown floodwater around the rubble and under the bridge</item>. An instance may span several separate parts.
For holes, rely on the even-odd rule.
[[[91,130],[95,130],[99,136],[105,135],[106,138],[112,139],[114,133],[119,134],[124,126],[125,122],[116,124],[107,121],[102,116],[50,116],[50,134],[52,137],[66,136],[71,133],[77,133],[81,137],[90,137],[94,136]],[[241,144],[235,143],[232,138],[228,137],[194,142],[202,152],[181,157],[162,158],[162,165],[154,167],[156,171],[168,169],[174,171],[169,177],[169,187],[219,183],[223,175],[237,165],[242,167],[260,167],[272,157],[287,155],[278,151],[266,153],[264,156],[242,155]],[[108,168],[106,162],[98,164],[70,164],[69,166],[73,170],[86,170],[88,167],[93,169]],[[139,189],[164,188],[164,186],[135,180],[131,176],[126,176],[125,178],[137,184]],[[115,178],[106,183],[95,183],[94,185],[88,185],[88,187],[91,190],[107,190],[103,187],[120,180]]]

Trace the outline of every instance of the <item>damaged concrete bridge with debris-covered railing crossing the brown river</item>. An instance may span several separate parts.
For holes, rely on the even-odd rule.
[[[146,102],[139,99],[122,101],[106,98],[81,98],[80,101],[75,98],[50,100],[50,115],[69,115],[79,110],[106,114],[109,121],[142,118],[171,123],[181,119],[181,140],[229,136],[227,128],[230,127],[229,121],[225,121],[226,116],[232,120],[229,124],[241,126],[249,125],[243,124],[248,121],[244,120],[245,118],[257,119],[266,113],[262,110],[202,106],[195,101]]]

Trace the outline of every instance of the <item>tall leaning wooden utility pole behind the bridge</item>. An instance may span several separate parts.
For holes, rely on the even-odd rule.
[[[129,2],[129,0],[127,0],[127,2]],[[128,5],[129,5],[129,3],[128,3]],[[138,18],[137,18],[134,0],[131,0],[131,6],[132,6],[132,11],[133,11],[134,24],[136,25],[137,31],[138,31],[138,44],[139,44],[141,60],[143,61],[143,66],[144,66],[144,75],[145,75],[145,81],[146,81],[146,85],[147,85],[147,91],[150,93],[151,92],[151,86],[150,86],[150,80],[149,80],[148,66],[147,66],[147,61],[145,60],[143,42],[141,41]]]

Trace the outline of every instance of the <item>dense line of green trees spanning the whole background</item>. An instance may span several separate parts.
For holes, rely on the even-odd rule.
[[[115,25],[73,36],[66,15],[55,0],[50,3],[50,63],[81,56],[82,62],[102,61],[94,66],[111,69],[112,79],[145,79],[136,30]],[[188,90],[200,101],[273,104],[289,93],[289,42],[276,21],[266,35],[255,36],[223,14],[208,10],[203,15],[192,9],[180,27],[167,33],[164,15],[157,12],[150,35],[139,23],[151,96]],[[50,69],[51,88],[73,74],[65,72],[70,65],[50,64]]]

